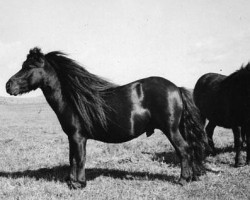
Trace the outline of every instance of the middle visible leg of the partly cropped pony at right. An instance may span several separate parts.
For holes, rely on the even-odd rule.
[[[243,157],[242,157],[242,134],[241,127],[233,127],[234,133],[234,148],[235,148],[235,167],[240,167],[243,165]]]

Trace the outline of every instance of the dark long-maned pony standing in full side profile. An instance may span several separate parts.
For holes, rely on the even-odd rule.
[[[69,139],[71,188],[86,186],[87,139],[109,143],[132,140],[160,129],[181,161],[179,183],[205,172],[208,145],[192,96],[160,77],[117,86],[79,66],[61,52],[30,50],[22,69],[6,83],[11,95],[41,88]]]

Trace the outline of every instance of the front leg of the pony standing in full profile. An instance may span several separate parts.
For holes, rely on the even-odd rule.
[[[84,188],[86,186],[86,143],[87,139],[78,132],[73,136],[69,136],[70,173],[67,182],[71,189]]]

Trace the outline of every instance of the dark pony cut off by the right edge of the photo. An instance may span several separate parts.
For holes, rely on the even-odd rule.
[[[216,126],[230,128],[234,133],[235,167],[243,165],[243,140],[247,141],[247,160],[250,164],[250,63],[229,76],[208,73],[197,81],[193,97],[206,126],[209,144],[214,148]],[[245,138],[246,137],[246,138]]]

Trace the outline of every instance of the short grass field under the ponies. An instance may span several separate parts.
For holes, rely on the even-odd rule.
[[[230,130],[216,129],[218,153],[207,158],[222,172],[184,187],[161,132],[118,145],[90,140],[87,187],[69,190],[67,137],[44,99],[1,98],[0,111],[0,199],[250,199],[250,166],[233,167]]]

